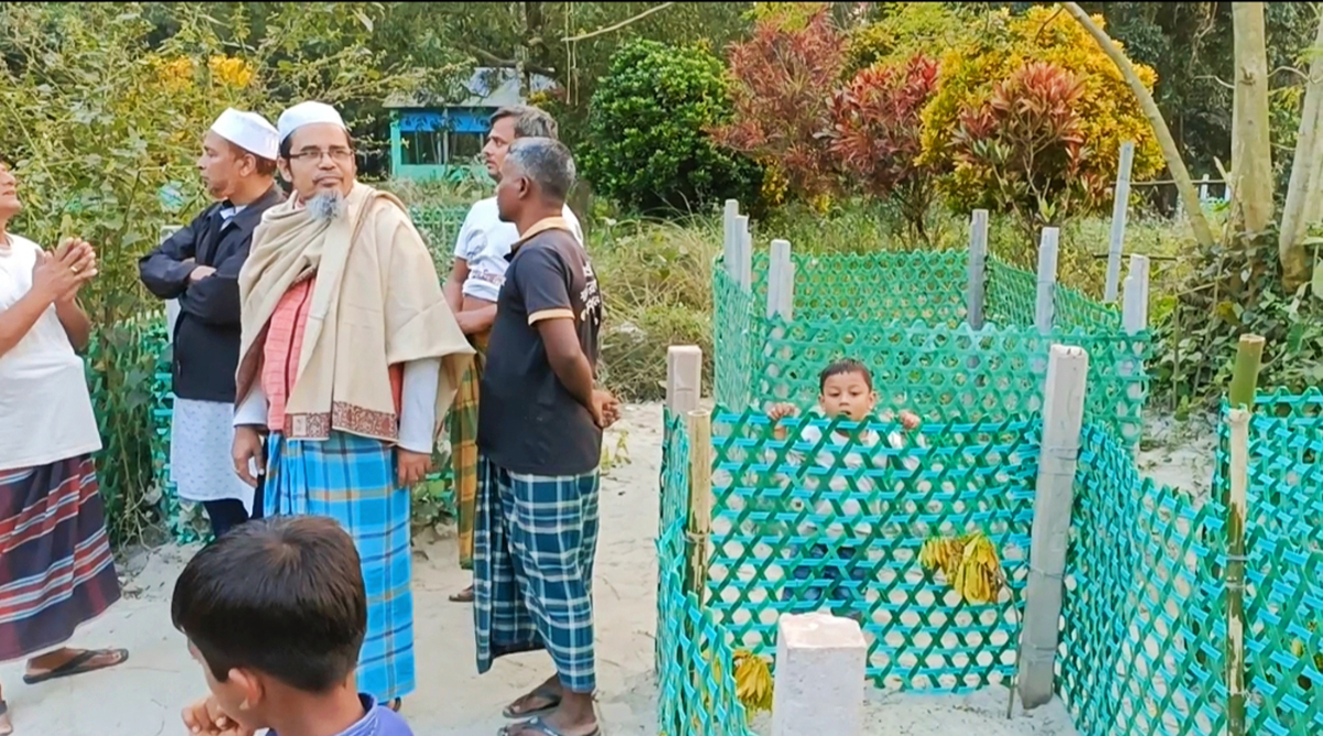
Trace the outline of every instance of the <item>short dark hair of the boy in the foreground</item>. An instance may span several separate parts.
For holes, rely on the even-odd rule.
[[[368,629],[359,552],[327,517],[250,521],[188,562],[171,620],[220,682],[251,669],[325,692],[357,667]]]

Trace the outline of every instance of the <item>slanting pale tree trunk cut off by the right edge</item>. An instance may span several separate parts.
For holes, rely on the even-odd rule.
[[[1315,48],[1323,48],[1323,13],[1314,38]],[[1277,242],[1282,262],[1282,285],[1294,292],[1310,279],[1308,254],[1301,242],[1311,225],[1323,217],[1323,54],[1310,63],[1310,78],[1301,107],[1301,127],[1295,139],[1295,157],[1291,161],[1291,181],[1282,206],[1282,231]]]

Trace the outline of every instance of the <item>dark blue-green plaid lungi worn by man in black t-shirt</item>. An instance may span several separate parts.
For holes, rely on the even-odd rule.
[[[497,657],[545,649],[565,688],[593,692],[597,470],[583,476],[525,476],[483,457],[478,478],[478,671],[490,670]]]

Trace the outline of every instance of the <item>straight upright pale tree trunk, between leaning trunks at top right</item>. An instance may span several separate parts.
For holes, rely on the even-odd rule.
[[[1233,217],[1248,233],[1273,223],[1273,147],[1267,129],[1267,46],[1263,4],[1232,3],[1236,95],[1232,131]]]

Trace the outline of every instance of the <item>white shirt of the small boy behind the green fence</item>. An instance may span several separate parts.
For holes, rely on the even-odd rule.
[[[814,420],[827,419],[827,416],[824,416],[819,410],[812,411],[810,416]],[[884,418],[882,420],[884,422],[889,420],[889,418]],[[869,501],[868,497],[872,496],[877,488],[877,485],[873,482],[873,477],[869,476],[868,472],[869,468],[876,468],[880,470],[886,469],[886,457],[885,456],[878,457],[876,452],[882,439],[876,429],[863,429],[853,436],[847,436],[840,432],[835,432],[833,435],[835,436],[832,436],[831,439],[828,439],[826,443],[822,444],[822,448],[814,456],[814,465],[828,469],[828,468],[839,468],[843,464],[847,470],[851,470],[848,473],[848,477],[841,473],[832,473],[831,476],[828,476],[830,480],[827,488],[833,493],[845,494],[845,497],[839,501],[840,514],[836,513],[836,509],[833,507],[831,499],[818,498],[818,501],[814,505],[814,511],[806,515],[804,519],[799,522],[798,531],[802,536],[814,536],[822,531],[823,522],[819,519],[855,518],[856,521],[855,523],[851,525],[851,529],[855,531],[855,535],[860,540],[863,540],[867,539],[873,531],[873,526],[865,518],[865,514],[872,513],[872,510],[869,509],[871,503],[868,503]],[[787,437],[787,441],[791,441],[792,445],[794,444],[816,445],[819,441],[822,441],[822,439],[823,439],[823,428],[810,424],[806,425],[803,429],[800,429],[798,439]],[[888,432],[886,444],[890,445],[892,449],[904,449],[905,437],[898,431]],[[926,447],[927,443],[923,441],[923,436],[919,435],[917,437],[916,444],[918,447]],[[840,462],[843,453],[844,453],[844,462]],[[773,452],[771,455],[774,457],[775,453]],[[783,474],[786,476],[792,476],[794,478],[799,478],[798,481],[791,480],[791,482],[796,482],[798,485],[802,485],[806,490],[814,492],[818,489],[820,478],[823,476],[789,472],[790,466],[803,465],[804,455],[806,453],[799,449],[794,448],[787,449],[782,470]],[[912,472],[918,469],[917,457],[905,457],[902,462]],[[851,485],[851,478],[853,478],[853,485]],[[860,501],[859,498],[851,498],[851,496],[853,496],[855,493],[864,494],[865,498],[863,501]],[[795,513],[802,511],[804,509],[804,499],[792,498],[790,502],[790,507]],[[826,526],[827,526],[826,529],[827,538],[839,539],[841,536],[845,536],[847,525],[844,521],[831,521],[827,522]]]

